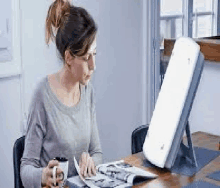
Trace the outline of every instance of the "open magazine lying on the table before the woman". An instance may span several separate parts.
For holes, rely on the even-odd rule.
[[[123,160],[120,160],[98,165],[96,167],[96,175],[84,179],[79,173],[79,165],[76,159],[74,159],[74,163],[79,176],[69,178],[68,182],[70,184],[73,183],[77,187],[131,187],[137,182],[142,182],[157,177],[156,174],[131,166],[125,163]]]

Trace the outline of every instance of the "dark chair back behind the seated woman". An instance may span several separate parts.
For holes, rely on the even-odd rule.
[[[24,151],[25,136],[18,138],[15,141],[13,148],[13,163],[14,163],[14,186],[15,188],[23,188],[20,178],[21,158]]]

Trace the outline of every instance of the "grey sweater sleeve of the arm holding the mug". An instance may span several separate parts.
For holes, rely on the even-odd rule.
[[[35,92],[29,108],[28,129],[21,159],[21,180],[25,188],[40,188],[43,167],[40,154],[46,134],[46,115],[40,92]]]

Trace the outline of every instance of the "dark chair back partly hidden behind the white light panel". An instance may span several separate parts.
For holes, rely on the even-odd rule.
[[[131,153],[135,154],[142,151],[142,147],[147,135],[149,125],[141,125],[136,128],[131,135]]]

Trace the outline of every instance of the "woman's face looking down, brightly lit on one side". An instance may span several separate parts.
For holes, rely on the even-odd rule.
[[[71,56],[68,64],[74,80],[83,85],[87,85],[95,69],[96,39],[92,43],[88,52],[81,57]]]

